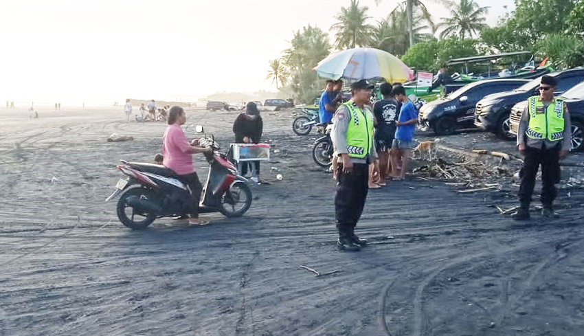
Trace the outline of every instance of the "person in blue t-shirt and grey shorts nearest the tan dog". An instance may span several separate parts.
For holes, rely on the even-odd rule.
[[[405,96],[405,88],[403,86],[396,87],[394,93],[396,100],[401,102],[401,110],[396,122],[396,133],[392,143],[392,148],[394,149],[392,167],[397,168],[398,162],[401,161],[401,172],[397,174],[397,171],[394,171],[392,177],[403,180],[407,171],[410,153],[414,148],[414,132],[418,122],[418,110],[414,107],[414,103],[410,102]]]

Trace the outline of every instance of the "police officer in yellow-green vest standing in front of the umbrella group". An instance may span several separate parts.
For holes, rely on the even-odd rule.
[[[367,240],[355,234],[367,198],[369,164],[377,167],[377,152],[373,142],[373,113],[370,104],[372,85],[359,80],[351,85],[352,99],[341,104],[333,120],[331,138],[335,144],[337,194],[335,215],[339,249],[359,251]]]

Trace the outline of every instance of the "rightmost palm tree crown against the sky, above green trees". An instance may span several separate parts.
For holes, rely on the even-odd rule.
[[[484,23],[487,12],[488,7],[480,7],[474,0],[460,0],[460,3],[453,3],[450,16],[441,18],[443,22],[438,25],[444,28],[440,33],[440,38],[451,35],[464,38],[467,34],[472,37],[473,34],[487,27]]]

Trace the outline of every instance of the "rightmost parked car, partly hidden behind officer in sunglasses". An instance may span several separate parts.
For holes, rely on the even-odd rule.
[[[559,83],[558,83],[559,84]],[[568,113],[570,113],[570,122],[572,124],[572,150],[584,149],[584,82],[572,87],[572,89],[563,93],[560,98],[565,100],[568,105]],[[515,104],[511,109],[510,133],[517,136],[519,129],[519,120],[521,114],[527,107],[527,99]]]

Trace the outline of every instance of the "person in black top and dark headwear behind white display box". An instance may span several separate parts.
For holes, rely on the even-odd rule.
[[[248,102],[245,113],[240,113],[233,123],[235,142],[237,144],[258,144],[262,138],[264,122],[260,117],[260,111],[255,102]],[[243,161],[241,164],[241,175],[247,174],[247,166],[251,167],[251,181],[260,181],[260,161]],[[253,166],[252,166],[253,165]]]

